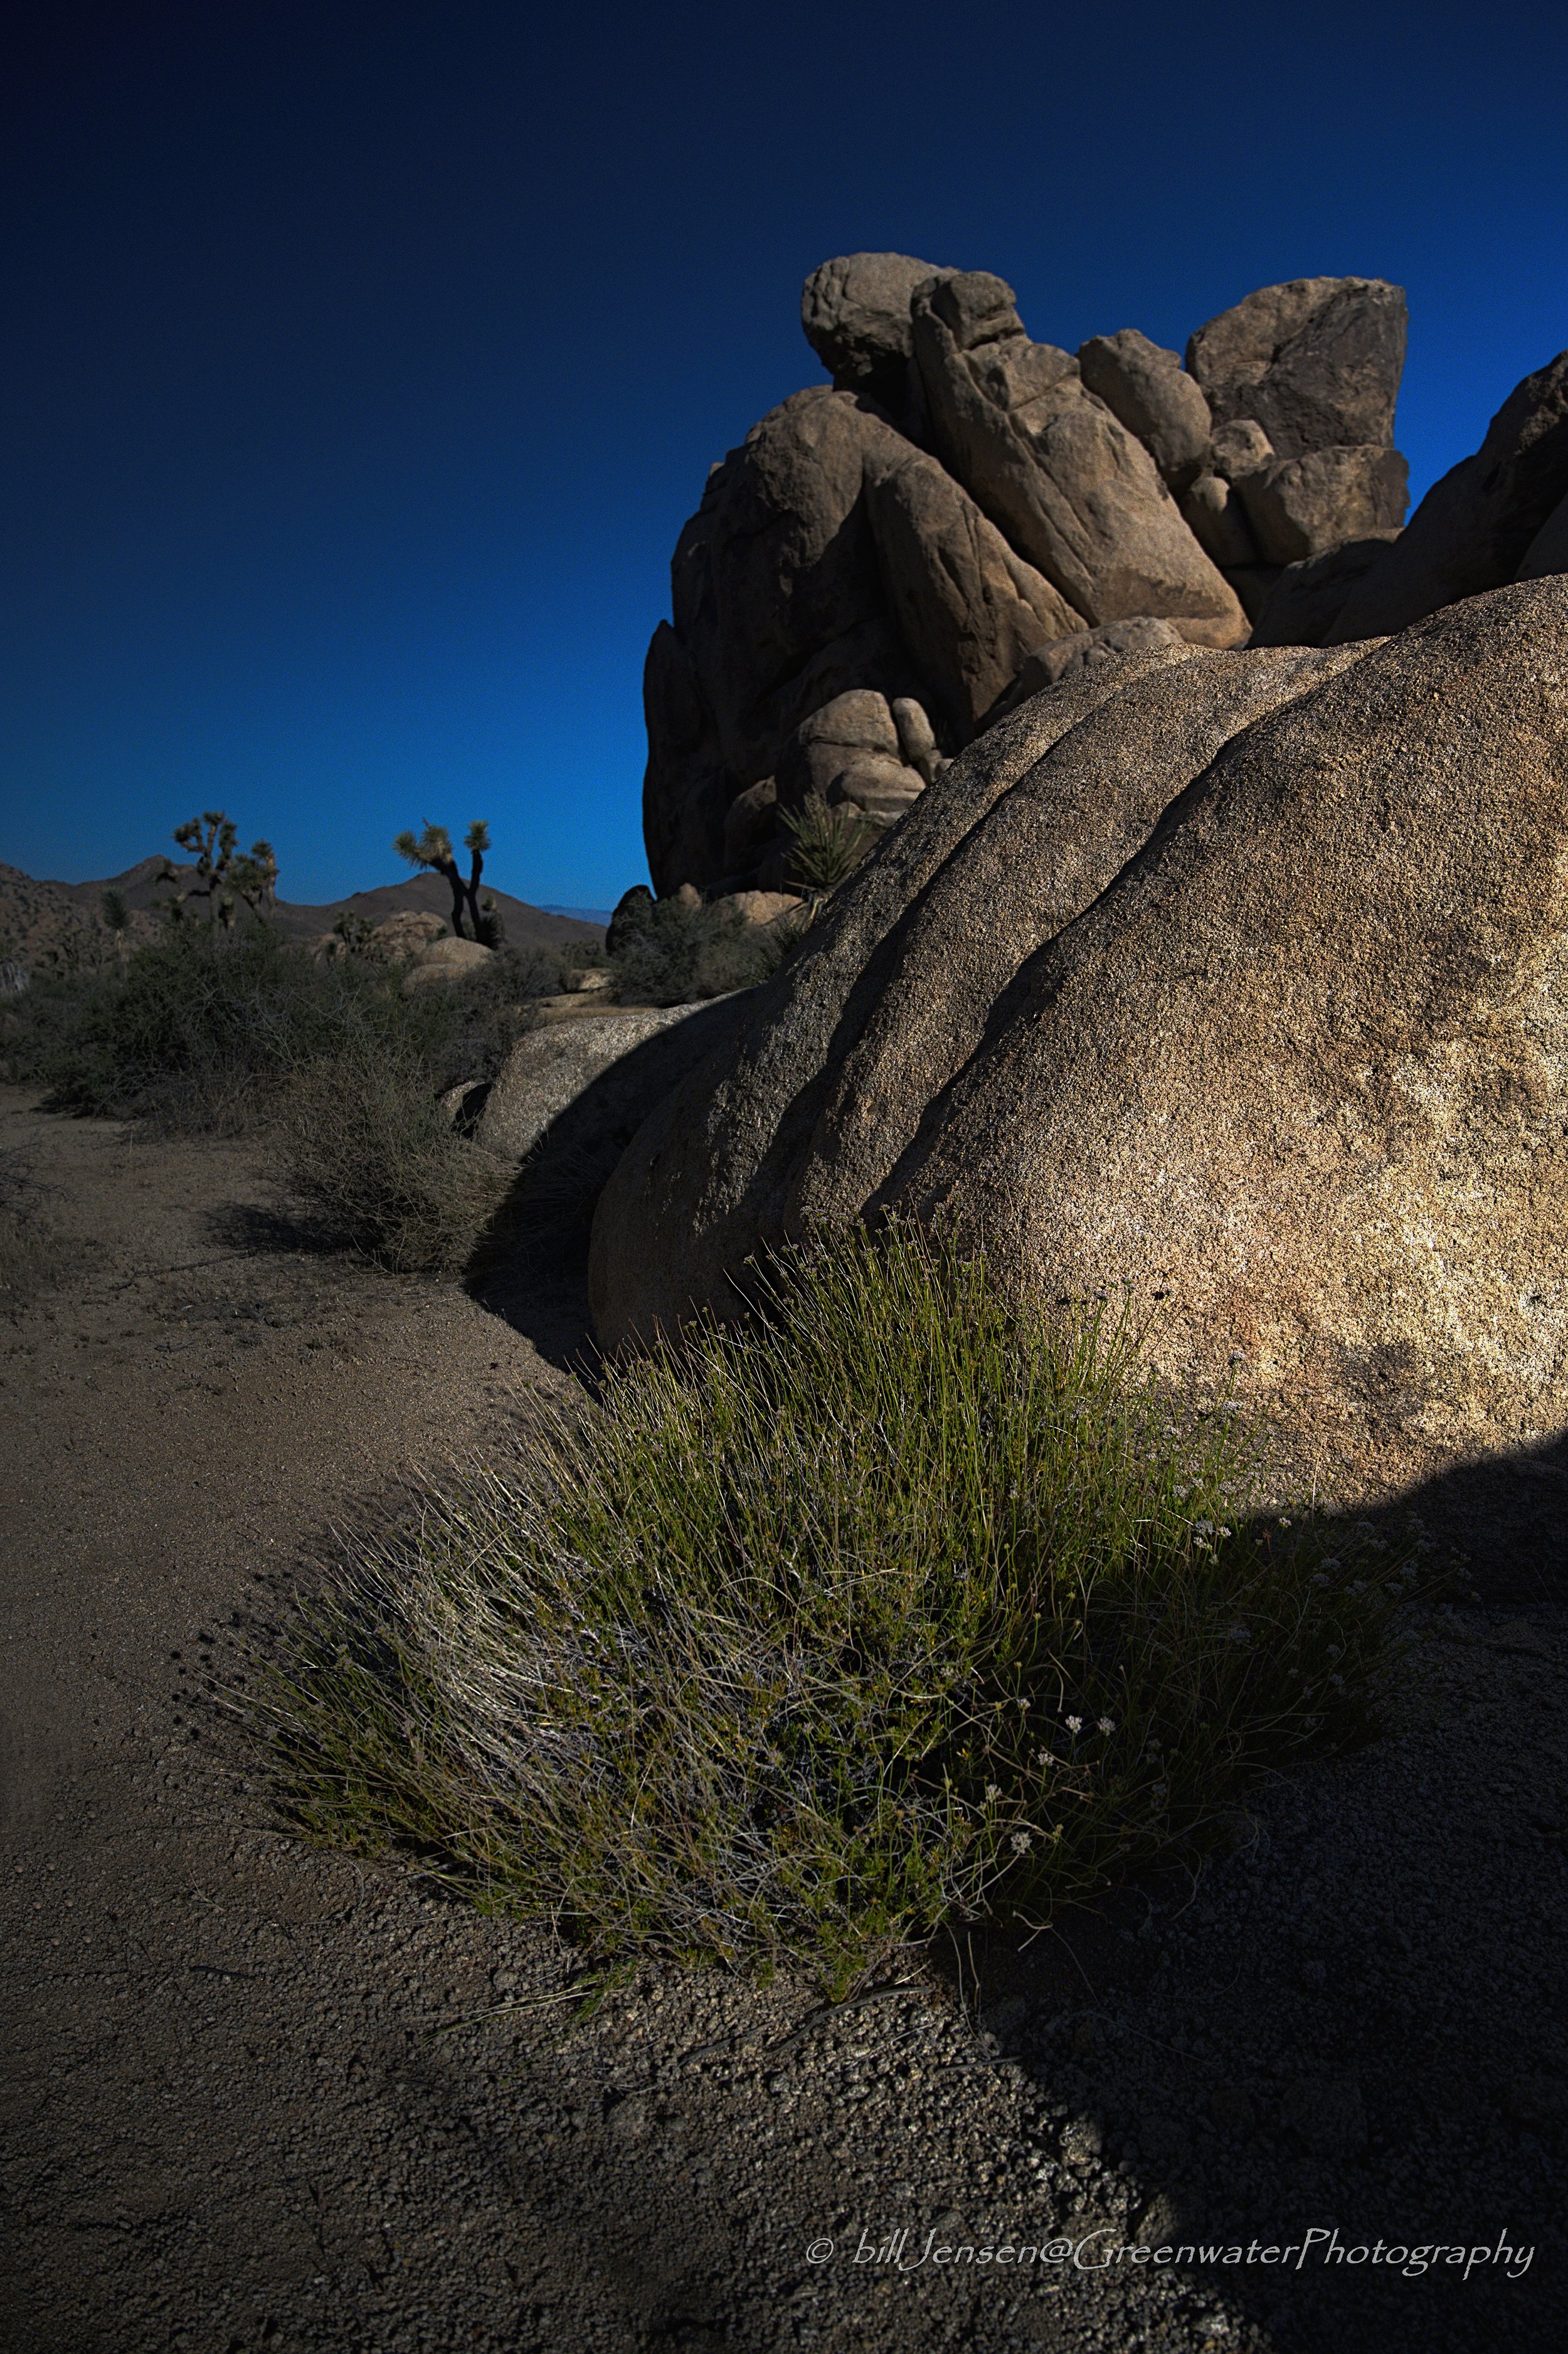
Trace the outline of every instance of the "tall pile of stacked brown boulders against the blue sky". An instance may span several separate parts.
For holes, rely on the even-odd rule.
[[[662,895],[777,890],[784,817],[892,824],[1064,640],[1241,645],[1285,567],[1349,593],[1342,551],[1403,520],[1382,280],[1250,294],[1187,367],[1135,330],[1036,344],[1001,278],[909,254],[824,261],[800,322],[833,381],[713,466],[647,652]]]

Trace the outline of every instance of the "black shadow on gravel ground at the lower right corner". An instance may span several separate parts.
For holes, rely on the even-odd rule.
[[[1368,1749],[1250,1791],[1189,1874],[930,1949],[1038,2083],[1088,2222],[1194,2250],[1189,2286],[1281,2354],[1566,2326],[1563,1476],[1559,1436],[1358,1514],[1396,1540],[1415,1511],[1469,1554]],[[1500,2260],[1500,2234],[1535,2255]],[[1467,2274],[1434,2246],[1493,2255]]]

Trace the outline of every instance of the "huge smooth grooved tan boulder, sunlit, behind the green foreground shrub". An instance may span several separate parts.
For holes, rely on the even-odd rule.
[[[1568,1387],[1568,581],[1380,645],[1151,650],[982,737],[593,1233],[605,1342],[902,1205],[1019,1283],[1168,1295],[1158,1363],[1309,1401],[1363,1483]]]

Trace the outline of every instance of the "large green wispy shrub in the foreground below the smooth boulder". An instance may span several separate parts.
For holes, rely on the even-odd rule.
[[[845,1987],[1366,1733],[1415,1572],[1262,1511],[1257,1434],[1172,1408],[1125,1318],[897,1226],[758,1292],[299,1605],[264,1702],[297,1824],[605,1966]]]

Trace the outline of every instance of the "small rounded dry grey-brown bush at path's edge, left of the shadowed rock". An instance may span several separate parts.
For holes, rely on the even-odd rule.
[[[283,1097],[278,1144],[315,1233],[396,1274],[461,1266],[511,1175],[454,1135],[407,1038],[358,1036],[311,1062]]]

